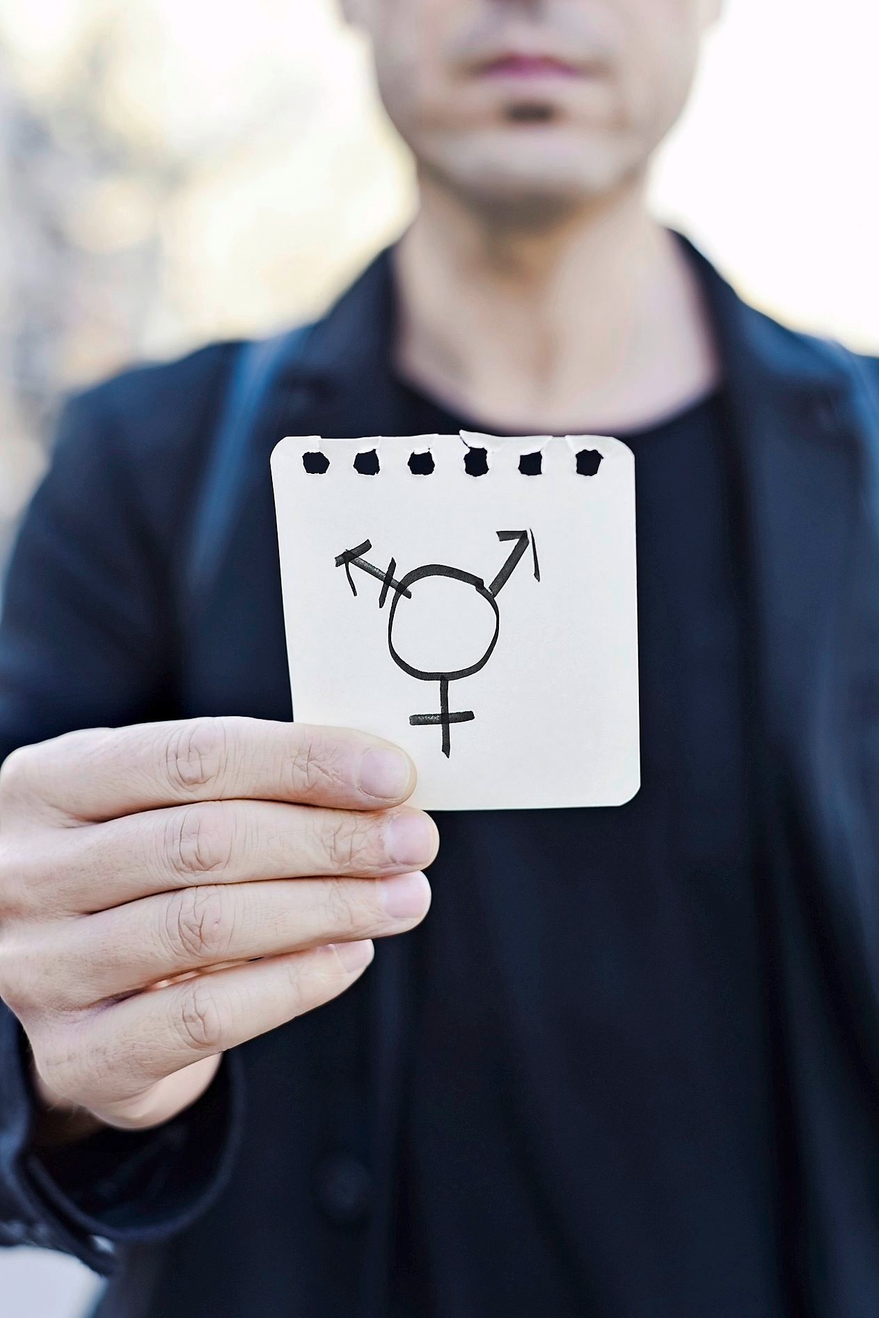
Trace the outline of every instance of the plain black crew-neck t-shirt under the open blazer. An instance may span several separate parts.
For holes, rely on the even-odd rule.
[[[490,428],[399,389],[401,432]],[[784,1311],[723,395],[621,438],[642,788],[438,818],[409,936],[401,1314]]]

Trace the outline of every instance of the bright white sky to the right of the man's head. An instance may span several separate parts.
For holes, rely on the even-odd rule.
[[[879,5],[726,0],[656,178],[751,297],[879,347]]]

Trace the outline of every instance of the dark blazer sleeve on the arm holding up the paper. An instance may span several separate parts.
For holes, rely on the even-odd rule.
[[[120,451],[105,390],[69,405],[12,556],[0,621],[0,760],[75,728],[174,713],[169,548],[141,511],[149,473]],[[224,1182],[240,1094],[237,1058],[225,1058],[202,1099],[165,1127],[108,1130],[37,1156],[26,1040],[0,1002],[0,1244],[62,1249],[108,1275],[125,1243],[188,1224]]]

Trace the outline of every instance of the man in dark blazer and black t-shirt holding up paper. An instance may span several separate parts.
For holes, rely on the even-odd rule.
[[[875,364],[647,215],[710,5],[348,8],[412,227],[74,401],[12,565],[4,1238],[113,1318],[875,1315]],[[268,457],[459,427],[634,449],[643,786],[441,817],[364,974],[436,828],[287,721]]]

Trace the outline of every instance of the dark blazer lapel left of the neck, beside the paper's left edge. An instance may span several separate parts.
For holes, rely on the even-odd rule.
[[[323,320],[278,343],[265,387],[257,381],[245,399],[231,449],[215,443],[208,453],[203,497],[213,496],[220,515],[210,552],[199,555],[199,588],[187,588],[181,602],[182,699],[192,710],[225,713],[239,692],[248,693],[239,712],[253,717],[290,708],[281,581],[277,571],[266,573],[277,564],[269,459],[285,435],[353,438],[352,422],[357,435],[394,432],[389,264],[382,253]],[[274,681],[260,691],[252,689],[253,637],[278,655]]]

